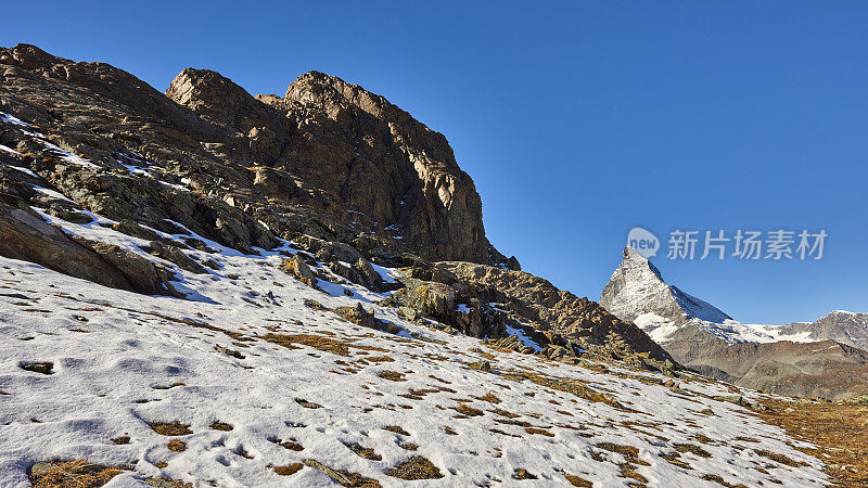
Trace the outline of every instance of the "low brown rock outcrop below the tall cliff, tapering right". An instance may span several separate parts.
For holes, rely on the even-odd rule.
[[[533,274],[461,261],[417,261],[400,273],[404,287],[387,305],[487,336],[497,347],[557,359],[589,354],[666,372],[676,368],[634,324]]]

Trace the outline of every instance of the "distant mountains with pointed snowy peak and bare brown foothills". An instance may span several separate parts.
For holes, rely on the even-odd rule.
[[[814,322],[742,323],[667,284],[630,247],[600,304],[682,364],[739,386],[832,399],[868,393],[868,313],[835,310]]]

